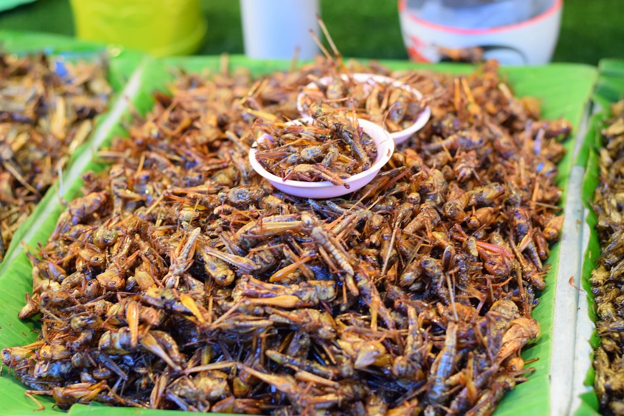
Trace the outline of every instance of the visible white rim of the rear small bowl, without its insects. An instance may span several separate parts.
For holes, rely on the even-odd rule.
[[[345,81],[348,80],[348,77],[346,76],[346,74],[341,74],[340,77],[344,79]],[[411,92],[411,94],[414,94],[414,96],[416,96],[417,99],[419,100],[422,99],[422,93],[418,91],[416,88],[412,88],[406,85],[404,82],[398,81],[396,79],[392,79],[391,77],[386,77],[383,75],[376,75],[376,74],[368,74],[365,72],[356,72],[354,74],[351,74],[351,77],[356,82],[369,84],[371,86],[370,91],[365,90],[365,92],[367,92],[368,94],[370,94],[370,92],[373,91],[373,86],[375,83],[392,84],[392,86],[394,87],[400,87],[400,88],[405,89],[406,91]],[[331,76],[322,77],[321,79],[319,79],[319,83],[322,85],[327,85],[329,84],[329,81],[331,81],[331,79],[332,79]],[[318,85],[315,82],[310,82],[310,84],[303,87],[303,90],[301,90],[301,92],[297,96],[297,109],[299,113],[301,114],[301,117],[310,117],[310,114],[308,114],[308,112],[306,112],[305,109],[303,108],[303,98],[306,96],[306,94],[308,94],[308,92],[314,92],[314,91],[319,91]],[[422,127],[425,124],[427,124],[427,121],[429,121],[429,117],[431,117],[431,109],[429,108],[429,106],[427,106],[421,112],[418,118],[414,121],[414,124],[407,127],[407,129],[390,133],[390,137],[394,139],[394,142],[396,144],[401,144],[402,142],[409,139],[409,137],[412,136],[412,134],[422,129]]]

